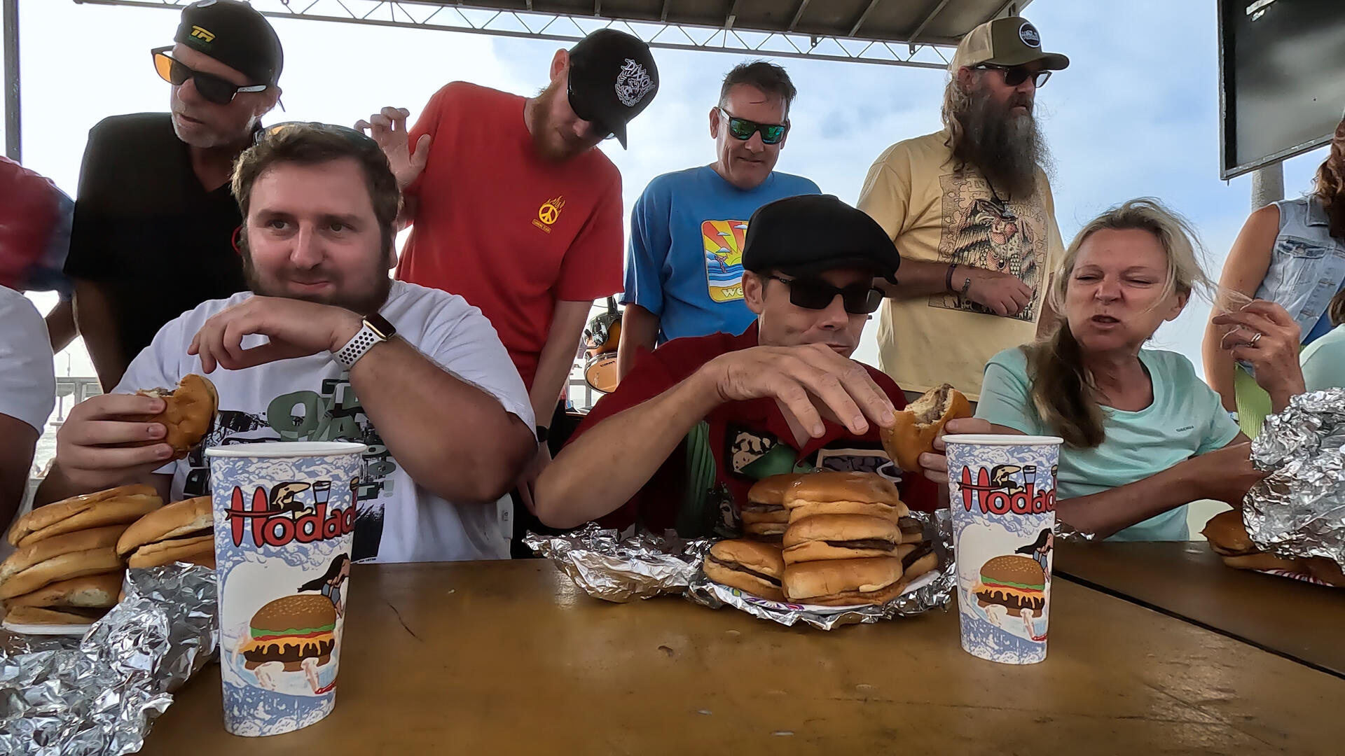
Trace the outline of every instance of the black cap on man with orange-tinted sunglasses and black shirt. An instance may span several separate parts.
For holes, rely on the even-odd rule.
[[[187,5],[174,42],[269,86],[280,82],[285,63],[276,30],[252,5],[237,0],[199,0]]]

